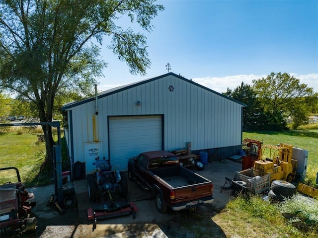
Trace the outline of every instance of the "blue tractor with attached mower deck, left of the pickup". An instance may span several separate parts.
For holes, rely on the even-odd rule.
[[[133,214],[137,207],[127,202],[128,183],[124,172],[118,170],[119,165],[112,170],[109,159],[97,157],[93,165],[93,174],[87,175],[88,196],[93,207],[87,210],[88,220],[94,220],[93,230],[98,219]]]

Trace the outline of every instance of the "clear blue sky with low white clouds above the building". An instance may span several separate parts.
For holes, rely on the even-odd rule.
[[[152,62],[133,76],[109,50],[99,90],[171,71],[218,92],[287,72],[318,92],[317,0],[158,0],[165,10],[147,36]],[[130,26],[121,20],[122,27]],[[136,31],[141,31],[136,25]],[[105,39],[105,43],[107,39]],[[102,46],[105,48],[105,45]]]

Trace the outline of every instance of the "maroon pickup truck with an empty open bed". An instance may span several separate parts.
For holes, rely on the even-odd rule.
[[[190,209],[214,201],[210,180],[180,166],[178,158],[166,151],[145,152],[129,159],[128,177],[150,190],[160,213]]]

